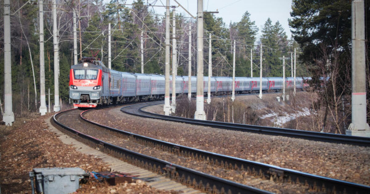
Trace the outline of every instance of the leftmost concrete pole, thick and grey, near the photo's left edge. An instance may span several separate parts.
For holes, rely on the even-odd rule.
[[[5,125],[14,122],[11,95],[11,52],[10,52],[10,0],[4,0],[4,115]]]

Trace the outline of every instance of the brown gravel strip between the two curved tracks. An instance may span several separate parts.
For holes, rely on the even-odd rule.
[[[122,113],[120,108],[93,110],[86,118],[209,152],[370,185],[370,148],[140,118]],[[160,105],[148,109],[163,110]]]

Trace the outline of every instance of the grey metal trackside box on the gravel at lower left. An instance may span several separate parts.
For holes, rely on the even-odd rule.
[[[33,177],[37,193],[68,194],[75,192],[84,178],[85,171],[81,168],[40,168],[29,173],[33,188]],[[33,192],[32,192],[33,193]]]

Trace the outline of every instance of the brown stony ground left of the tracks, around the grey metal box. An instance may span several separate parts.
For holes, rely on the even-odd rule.
[[[35,118],[16,118],[13,126],[0,125],[0,188],[2,194],[31,193],[28,171],[45,167],[80,167],[85,171],[109,170],[106,163],[92,155],[81,154],[71,145],[62,143],[50,132],[45,119],[51,114]],[[96,180],[82,184],[77,193],[95,194],[170,194],[155,190],[143,181],[108,186]],[[172,192],[175,193],[175,192]]]

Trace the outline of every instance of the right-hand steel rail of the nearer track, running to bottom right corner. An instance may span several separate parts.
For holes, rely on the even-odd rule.
[[[150,103],[151,104],[151,103]],[[148,105],[148,104],[147,104]],[[128,106],[134,108],[133,106]],[[136,109],[137,113],[140,110]],[[83,117],[82,117],[83,118]],[[83,118],[84,119],[84,118]],[[98,123],[90,122],[97,126]],[[142,144],[154,145],[155,147],[161,147],[163,150],[177,154],[179,157],[191,157],[197,161],[202,161],[211,166],[221,167],[225,170],[234,170],[246,172],[256,177],[262,178],[262,180],[273,180],[276,183],[289,183],[306,186],[310,191],[323,192],[323,193],[369,193],[370,187],[361,184],[350,183],[346,181],[336,180],[332,178],[316,176],[313,174],[302,173],[295,170],[283,169],[277,166],[268,164],[238,159],[229,157],[221,154],[215,154],[205,152],[202,150],[193,149],[190,147],[181,146],[178,144],[167,143],[159,140],[155,140],[149,137],[136,135],[134,133],[124,132],[122,130],[113,129],[111,127],[102,126],[107,130],[114,133],[121,134],[123,136],[130,136],[137,142]]]

